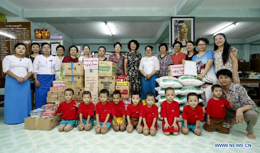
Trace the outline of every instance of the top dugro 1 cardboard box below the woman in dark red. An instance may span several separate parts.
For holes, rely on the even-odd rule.
[[[83,63],[64,63],[64,75],[84,75]]]

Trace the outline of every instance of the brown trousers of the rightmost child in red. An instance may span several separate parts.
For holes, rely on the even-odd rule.
[[[229,134],[229,129],[224,128],[224,119],[215,119],[215,118],[209,118],[210,120],[210,125],[207,124],[207,122],[203,125],[203,128],[208,131],[212,132],[216,129],[218,133],[223,133],[223,134]]]

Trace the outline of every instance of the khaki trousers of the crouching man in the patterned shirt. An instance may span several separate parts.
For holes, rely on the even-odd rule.
[[[257,113],[255,110],[248,110],[246,112],[243,112],[244,114],[244,120],[247,124],[246,131],[251,133],[253,130],[253,126],[257,122],[257,118],[259,117],[259,113]],[[226,116],[224,120],[229,123],[232,118],[236,118],[236,111],[229,110],[226,108]]]

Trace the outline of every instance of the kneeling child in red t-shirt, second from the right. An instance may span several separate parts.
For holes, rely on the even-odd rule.
[[[182,112],[181,133],[183,134],[188,134],[191,129],[196,135],[201,135],[199,124],[204,117],[202,107],[198,106],[198,99],[198,95],[194,92],[187,95],[189,105],[184,106]]]

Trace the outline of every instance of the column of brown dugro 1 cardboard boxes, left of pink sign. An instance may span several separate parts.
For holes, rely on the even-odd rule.
[[[65,88],[74,90],[74,98],[82,102],[82,93],[84,92],[84,69],[83,63],[64,63]]]

